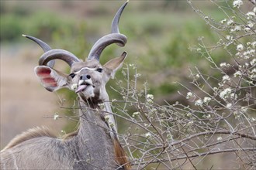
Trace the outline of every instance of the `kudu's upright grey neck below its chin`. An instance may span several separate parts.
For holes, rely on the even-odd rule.
[[[105,111],[111,111],[110,104],[106,104],[106,110],[102,110],[100,104],[104,104],[103,102],[97,104],[91,103],[92,101],[80,99],[79,102],[79,107],[81,107],[79,110],[80,127],[77,135],[79,155],[85,160],[92,158],[90,162],[92,165],[114,169],[113,141],[110,138],[109,127],[104,119]]]

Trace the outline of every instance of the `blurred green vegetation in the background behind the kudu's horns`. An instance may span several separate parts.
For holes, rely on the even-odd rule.
[[[82,59],[92,44],[109,33],[112,17],[123,2],[34,2],[1,1],[1,43],[29,43],[22,34],[35,36],[52,45],[71,51]],[[78,3],[78,5],[76,4]],[[213,15],[223,15],[208,3],[200,3]],[[80,7],[80,11],[78,10]],[[218,18],[218,17],[217,17]],[[220,17],[221,18],[221,17]],[[119,29],[128,37],[124,49],[110,46],[102,53],[102,63],[123,50],[129,53],[126,63],[137,66],[138,88],[145,81],[150,93],[161,99],[177,93],[175,81],[189,79],[188,66],[199,66],[207,71],[201,56],[192,53],[189,46],[197,45],[199,36],[207,36],[209,45],[219,38],[206,26],[185,1],[131,1],[120,19]],[[217,51],[216,59],[223,60],[223,52]],[[65,69],[68,72],[68,68]],[[130,70],[133,79],[134,70]],[[123,80],[121,71],[116,81]],[[111,99],[119,99],[118,83],[110,81],[107,89]],[[74,100],[74,93],[64,91],[67,100]],[[69,128],[70,129],[70,128]],[[67,130],[68,131],[68,130]]]

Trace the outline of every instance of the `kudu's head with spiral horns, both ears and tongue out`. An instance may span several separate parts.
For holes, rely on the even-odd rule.
[[[35,73],[39,78],[40,83],[49,91],[56,91],[67,87],[78,93],[82,100],[99,101],[109,100],[106,93],[105,85],[109,78],[113,77],[126,58],[126,52],[121,56],[111,59],[105,65],[99,63],[99,59],[103,49],[106,46],[116,43],[119,46],[125,46],[126,36],[119,33],[119,18],[126,7],[127,2],[119,8],[114,19],[112,20],[111,33],[103,36],[97,42],[85,61],[78,59],[74,54],[64,49],[51,49],[45,42],[36,39],[32,36],[26,36],[39,44],[45,53],[40,57],[39,66],[36,66]],[[23,35],[25,36],[25,35]],[[69,75],[54,70],[54,60],[64,60],[71,66],[71,73]]]

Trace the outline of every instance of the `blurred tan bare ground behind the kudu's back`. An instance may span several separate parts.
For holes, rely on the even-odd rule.
[[[33,69],[43,51],[33,47],[1,46],[1,149],[29,128],[46,126],[61,134],[65,124],[65,120],[45,118],[60,107],[57,93],[48,92],[36,79]]]

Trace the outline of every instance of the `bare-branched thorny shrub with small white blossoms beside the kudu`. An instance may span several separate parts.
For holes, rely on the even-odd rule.
[[[225,19],[216,21],[188,1],[206,23],[218,33],[216,46],[206,46],[203,37],[198,47],[190,47],[209,62],[214,76],[191,70],[192,87],[180,85],[180,93],[189,105],[158,105],[148,93],[147,83],[138,90],[137,68],[123,70],[126,83],[117,81],[114,89],[123,100],[112,100],[116,117],[126,121],[119,134],[133,168],[197,168],[209,155],[225,152],[233,158],[229,166],[219,168],[256,168],[256,7],[243,12],[241,0],[211,1]],[[251,2],[249,2],[251,3]],[[214,50],[225,50],[227,62],[216,63]],[[130,70],[135,71],[130,80]],[[126,84],[126,86],[124,86]],[[128,111],[133,107],[133,113]],[[123,125],[123,124],[122,124]],[[121,126],[121,125],[119,125]],[[218,168],[217,162],[200,168]]]

